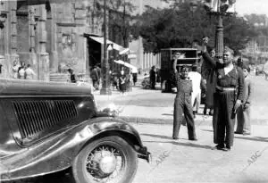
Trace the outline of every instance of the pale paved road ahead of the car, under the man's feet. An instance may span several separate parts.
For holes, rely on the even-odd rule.
[[[172,125],[138,124],[135,128],[152,152],[153,162],[139,161],[134,183],[268,182],[267,126],[253,126],[251,136],[236,135],[230,152],[212,150],[211,127],[197,127],[197,142],[188,141],[185,127],[179,140],[171,138]],[[163,161],[161,154],[167,154]],[[258,157],[252,161],[254,154]]]

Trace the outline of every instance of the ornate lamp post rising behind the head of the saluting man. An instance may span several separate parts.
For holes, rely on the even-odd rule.
[[[209,14],[217,17],[218,24],[215,35],[216,57],[222,59],[223,54],[223,25],[222,16],[230,15],[233,12],[227,12],[235,4],[236,0],[205,0],[204,7]]]

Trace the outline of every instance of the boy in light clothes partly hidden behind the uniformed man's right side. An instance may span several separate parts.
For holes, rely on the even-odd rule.
[[[235,131],[236,134],[243,134],[243,135],[250,135],[251,127],[250,127],[250,105],[253,97],[253,83],[249,77],[250,68],[246,65],[242,66],[244,76],[245,76],[245,83],[244,83],[244,100],[237,112],[237,130]]]

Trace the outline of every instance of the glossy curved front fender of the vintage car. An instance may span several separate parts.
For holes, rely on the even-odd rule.
[[[100,117],[84,121],[79,125],[58,131],[36,146],[1,159],[1,179],[23,179],[62,171],[88,143],[99,137],[118,135],[123,137],[144,159],[149,157],[142,146],[136,129],[120,119]]]

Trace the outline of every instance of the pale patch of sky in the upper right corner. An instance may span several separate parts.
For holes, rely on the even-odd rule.
[[[268,16],[268,0],[237,0],[235,9],[240,15],[257,13]]]

